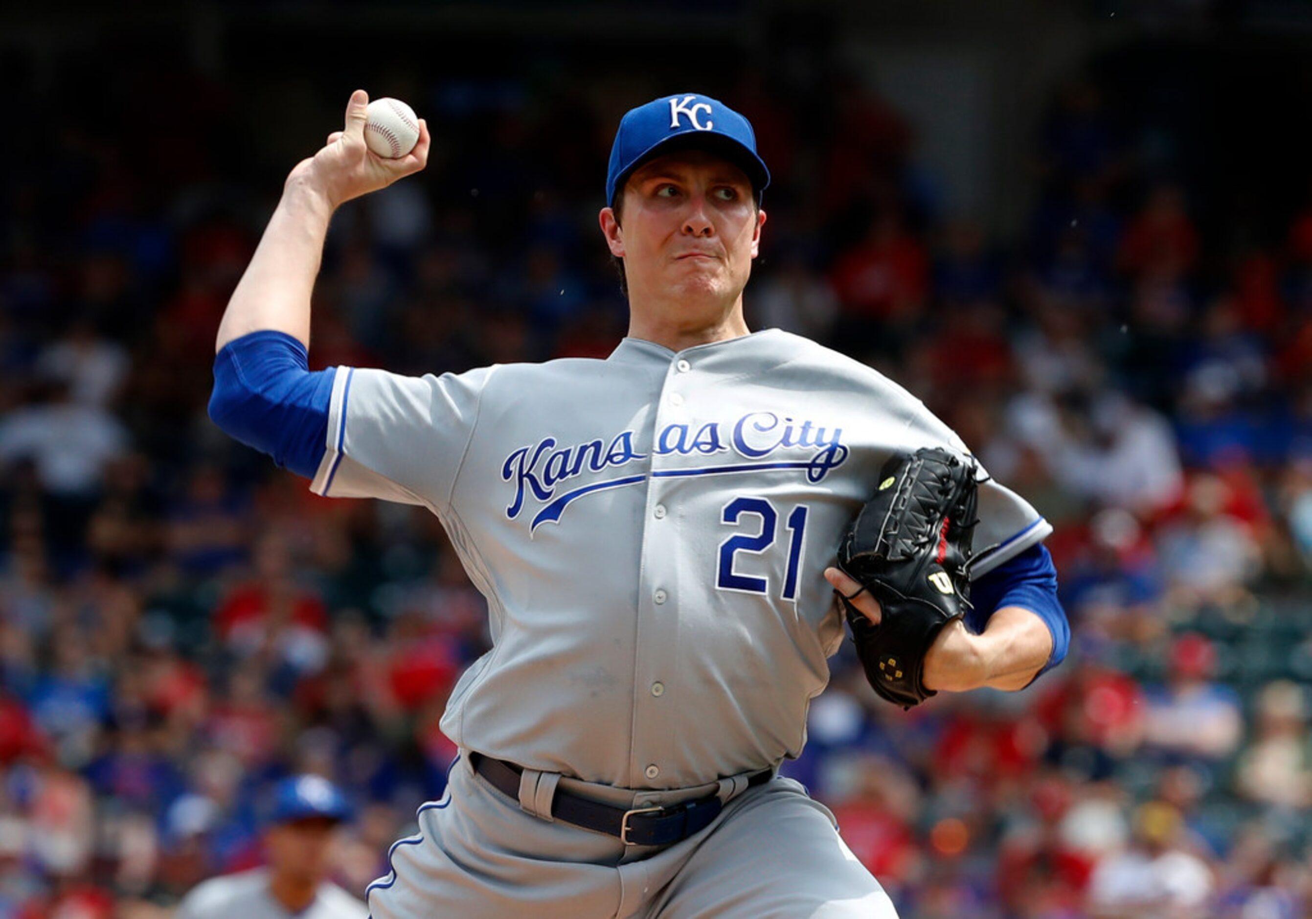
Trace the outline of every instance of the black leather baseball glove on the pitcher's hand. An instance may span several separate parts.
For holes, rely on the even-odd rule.
[[[941,448],[895,454],[838,547],[838,567],[862,586],[842,603],[866,679],[907,709],[934,695],[921,681],[925,652],[970,605],[975,469]],[[883,609],[879,625],[850,603],[863,591]]]

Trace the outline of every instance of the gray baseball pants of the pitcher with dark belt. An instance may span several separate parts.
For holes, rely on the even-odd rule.
[[[668,847],[619,839],[544,813],[562,789],[617,807],[674,805],[719,793],[714,823]],[[897,919],[857,861],[833,814],[791,779],[735,794],[744,780],[635,793],[525,772],[521,802],[462,752],[446,796],[424,805],[420,835],[398,842],[392,873],[370,885],[373,919]]]

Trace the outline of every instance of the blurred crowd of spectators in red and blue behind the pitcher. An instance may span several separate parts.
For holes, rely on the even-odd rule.
[[[214,333],[281,173],[232,155],[222,87],[154,66],[115,79],[157,144],[62,125],[0,176],[0,919],[165,915],[260,863],[269,789],[299,772],[353,796],[336,876],[361,891],[441,796],[438,717],[488,646],[426,511],[319,499],[210,424]],[[911,713],[845,650],[785,772],[905,916],[1307,915],[1312,202],[1231,221],[1078,77],[1002,246],[871,87],[789,79],[714,88],[775,176],[749,324],[953,424],[1056,528],[1073,637],[1022,693]],[[429,171],[335,219],[312,366],[607,354],[607,144],[661,88],[425,89]]]

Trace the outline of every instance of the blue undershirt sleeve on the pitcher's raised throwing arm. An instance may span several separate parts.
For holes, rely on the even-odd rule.
[[[243,335],[214,357],[210,417],[247,446],[312,479],[327,449],[335,373],[311,373],[306,347],[286,332]]]

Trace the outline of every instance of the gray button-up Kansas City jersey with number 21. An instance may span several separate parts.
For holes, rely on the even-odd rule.
[[[493,647],[442,730],[533,769],[672,789],[795,756],[842,617],[823,570],[895,450],[960,440],[778,330],[422,378],[336,372],[312,490],[437,513]],[[980,490],[983,574],[1048,524]]]

